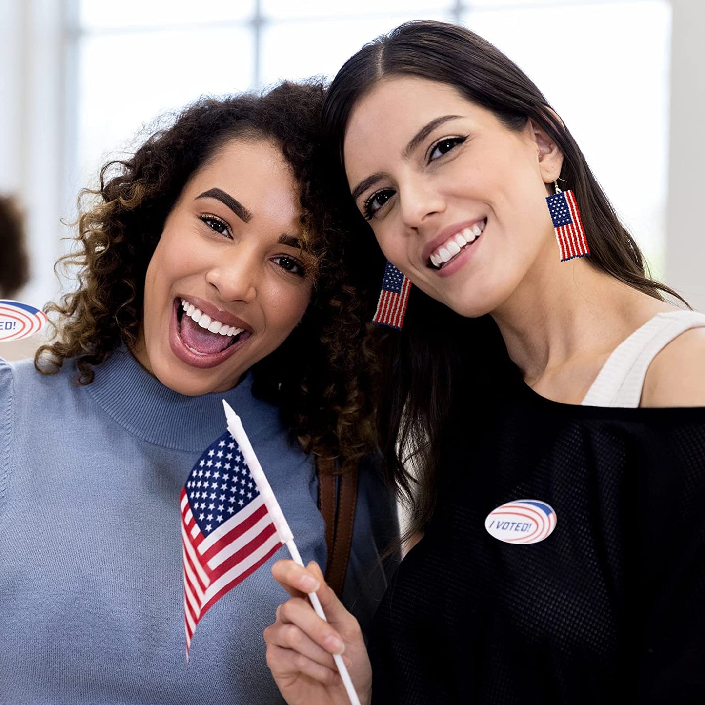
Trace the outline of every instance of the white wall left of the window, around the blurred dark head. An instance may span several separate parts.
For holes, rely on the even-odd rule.
[[[21,298],[37,307],[58,293],[47,272],[68,235],[60,223],[66,212],[65,1],[0,0],[0,191],[17,194],[25,208],[32,281]]]

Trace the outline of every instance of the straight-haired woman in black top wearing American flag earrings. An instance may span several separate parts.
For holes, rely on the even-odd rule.
[[[377,420],[423,538],[376,613],[372,667],[329,589],[329,624],[302,600],[320,572],[275,565],[286,699],[343,702],[337,649],[363,702],[696,701],[705,316],[646,274],[560,117],[468,30],[365,46],[324,133],[369,307],[385,258],[386,288],[413,285],[403,329],[375,336]]]

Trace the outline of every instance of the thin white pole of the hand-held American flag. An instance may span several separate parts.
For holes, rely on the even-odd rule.
[[[298,563],[298,565],[302,568],[305,568],[299,549],[296,548],[296,544],[294,543],[294,536],[291,533],[286,517],[284,516],[278,501],[276,501],[276,496],[274,496],[274,491],[271,489],[269,480],[266,479],[264,470],[262,470],[262,465],[259,465],[259,460],[257,460],[257,455],[255,455],[255,450],[252,448],[250,439],[247,438],[247,434],[243,428],[243,422],[240,421],[240,417],[233,411],[231,405],[229,405],[224,399],[223,407],[225,408],[226,419],[228,419],[228,431],[230,431],[231,436],[233,436],[235,441],[238,443],[240,453],[243,454],[247,467],[250,468],[252,479],[255,480],[257,489],[259,489],[259,494],[262,496],[262,500],[266,505],[267,511],[269,511],[269,514],[271,515],[272,522],[274,522],[274,527],[276,528],[279,539],[281,539],[283,544],[286,544],[286,547],[289,549],[289,553],[291,554],[291,558],[293,558],[294,562]],[[327,622],[328,620],[326,619],[326,614],[323,611],[318,595],[315,592],[309,592],[308,596],[315,613],[319,615],[322,620]],[[345,686],[345,692],[348,693],[350,703],[352,705],[360,705],[360,699],[357,697],[357,692],[355,692],[353,681],[350,680],[350,673],[348,673],[348,668],[345,666],[343,657],[340,656],[340,654],[333,654],[333,661],[336,662],[338,673],[341,674],[343,685]]]

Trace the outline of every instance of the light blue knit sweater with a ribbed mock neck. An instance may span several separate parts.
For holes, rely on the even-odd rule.
[[[226,398],[304,560],[322,566],[312,459],[276,407],[252,396],[251,376],[225,394],[181,396],[118,350],[92,384],[73,379],[73,364],[44,376],[30,361],[0,361],[0,702],[281,702],[262,631],[286,599],[270,573],[286,549],[204,616],[187,664],[179,493],[225,430]],[[386,582],[377,547],[396,517],[363,470],[345,591],[369,613]]]

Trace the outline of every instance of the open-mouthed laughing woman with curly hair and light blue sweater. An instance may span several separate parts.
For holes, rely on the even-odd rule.
[[[323,99],[316,84],[201,99],[102,169],[68,258],[78,286],[49,307],[56,340],[34,366],[0,366],[4,700],[278,700],[266,568],[214,604],[185,662],[179,495],[225,431],[223,398],[306,558],[326,560],[314,458],[358,466],[345,601],[365,613],[384,589],[396,508],[371,455],[357,296],[320,205]]]

